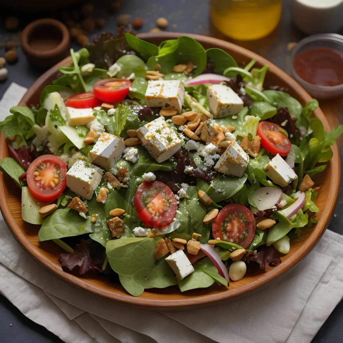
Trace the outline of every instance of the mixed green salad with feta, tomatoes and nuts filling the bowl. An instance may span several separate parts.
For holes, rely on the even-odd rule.
[[[102,34],[0,122],[22,218],[67,273],[145,288],[228,287],[281,263],[317,223],[312,180],[343,126],[264,89],[268,66],[181,36]],[[231,282],[230,281],[230,282]],[[222,285],[222,286],[219,286]]]

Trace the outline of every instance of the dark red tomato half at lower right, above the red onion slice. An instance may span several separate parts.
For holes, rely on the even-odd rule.
[[[212,223],[212,234],[215,239],[230,241],[243,248],[252,242],[255,230],[256,222],[253,213],[240,204],[223,207]]]

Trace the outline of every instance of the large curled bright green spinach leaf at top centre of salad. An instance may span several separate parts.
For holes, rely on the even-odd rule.
[[[168,74],[177,64],[189,61],[196,66],[192,71],[193,76],[201,74],[206,67],[206,52],[195,39],[181,36],[178,39],[163,42],[159,46],[158,55],[150,57],[146,64],[150,70],[154,70],[156,63],[159,63],[161,73]]]

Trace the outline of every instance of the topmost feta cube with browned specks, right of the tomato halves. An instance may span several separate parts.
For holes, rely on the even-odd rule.
[[[149,81],[145,92],[146,106],[169,107],[181,113],[185,87],[180,80]]]

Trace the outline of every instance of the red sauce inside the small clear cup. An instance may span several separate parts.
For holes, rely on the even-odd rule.
[[[294,70],[301,79],[320,86],[343,84],[343,53],[331,48],[313,48],[294,59]]]

